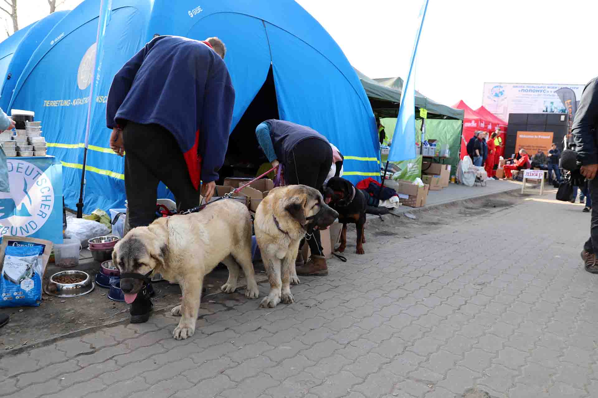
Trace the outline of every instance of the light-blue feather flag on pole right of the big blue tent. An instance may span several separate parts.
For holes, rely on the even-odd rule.
[[[413,45],[413,53],[411,53],[407,81],[403,86],[401,105],[399,106],[399,116],[396,119],[395,133],[392,135],[392,144],[390,144],[388,153],[388,160],[390,162],[400,162],[415,158],[414,66],[416,64],[417,44],[419,43],[419,36],[422,34],[423,20],[426,17],[426,10],[428,10],[428,0],[425,0],[418,17],[419,28],[417,29],[415,44]]]

